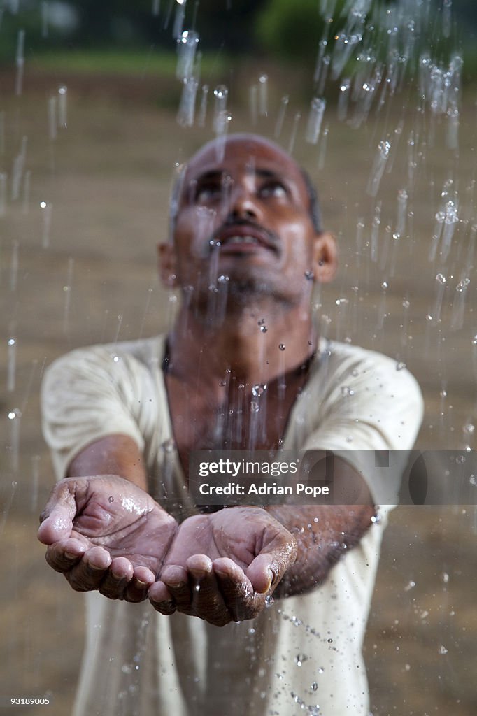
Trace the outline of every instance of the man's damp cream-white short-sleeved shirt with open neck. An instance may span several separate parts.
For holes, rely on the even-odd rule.
[[[413,447],[423,415],[418,384],[381,354],[324,341],[319,349],[282,449],[346,451],[379,501],[382,473],[367,469],[362,451]],[[164,351],[160,336],[59,359],[43,384],[44,435],[58,478],[90,442],[129,435],[145,455],[150,493],[182,519],[193,507],[173,441]],[[397,484],[386,487],[397,494]],[[74,716],[366,716],[362,639],[387,511],[380,505],[381,522],[322,586],[277,599],[253,621],[218,628],[163,616],[148,601],[87,594]]]

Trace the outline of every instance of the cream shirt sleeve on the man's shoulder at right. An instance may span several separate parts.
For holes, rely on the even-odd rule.
[[[399,501],[401,476],[423,420],[423,397],[412,374],[367,352],[347,364],[327,395],[322,420],[305,450],[331,450],[362,475],[375,504]]]

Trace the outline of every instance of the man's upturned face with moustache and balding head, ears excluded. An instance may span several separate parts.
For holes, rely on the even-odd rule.
[[[176,280],[197,296],[226,281],[234,294],[309,300],[319,237],[307,187],[294,160],[260,137],[230,137],[222,157],[213,143],[192,158],[173,238]]]

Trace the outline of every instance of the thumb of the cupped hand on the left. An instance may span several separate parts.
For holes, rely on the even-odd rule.
[[[43,544],[53,544],[71,534],[73,519],[77,514],[75,492],[76,480],[62,480],[53,488],[40,515],[38,539]]]

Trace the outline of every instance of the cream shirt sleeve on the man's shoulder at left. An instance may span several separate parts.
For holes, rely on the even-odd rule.
[[[42,384],[42,428],[57,479],[83,448],[127,435],[144,448],[140,402],[145,368],[134,357],[97,346],[57,359]]]

